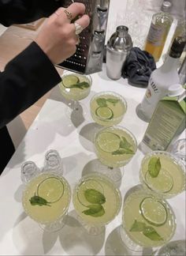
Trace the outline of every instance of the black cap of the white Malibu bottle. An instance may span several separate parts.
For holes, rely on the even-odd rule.
[[[169,55],[173,58],[180,58],[180,55],[184,51],[186,40],[182,36],[177,36],[173,40],[173,44],[170,49]]]

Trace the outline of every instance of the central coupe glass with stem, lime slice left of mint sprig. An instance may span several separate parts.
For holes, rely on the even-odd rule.
[[[95,134],[95,153],[100,164],[97,171],[103,172],[117,183],[122,175],[122,167],[132,160],[137,142],[134,135],[122,126],[104,127]]]

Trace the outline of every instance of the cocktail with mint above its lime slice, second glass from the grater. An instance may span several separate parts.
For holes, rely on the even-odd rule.
[[[127,111],[125,99],[116,92],[99,92],[91,99],[91,117],[101,126],[117,125]]]

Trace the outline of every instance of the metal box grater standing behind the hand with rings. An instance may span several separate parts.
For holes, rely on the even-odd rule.
[[[99,72],[102,70],[110,0],[77,0],[74,2],[84,3],[91,22],[88,28],[80,33],[80,44],[77,46],[76,53],[58,66],[76,73]],[[72,4],[71,0],[64,0],[63,7],[67,8],[70,4]]]

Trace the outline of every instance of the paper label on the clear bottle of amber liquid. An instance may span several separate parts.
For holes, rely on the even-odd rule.
[[[164,28],[157,24],[151,23],[151,28],[148,32],[147,41],[155,46],[160,46],[162,44]]]

